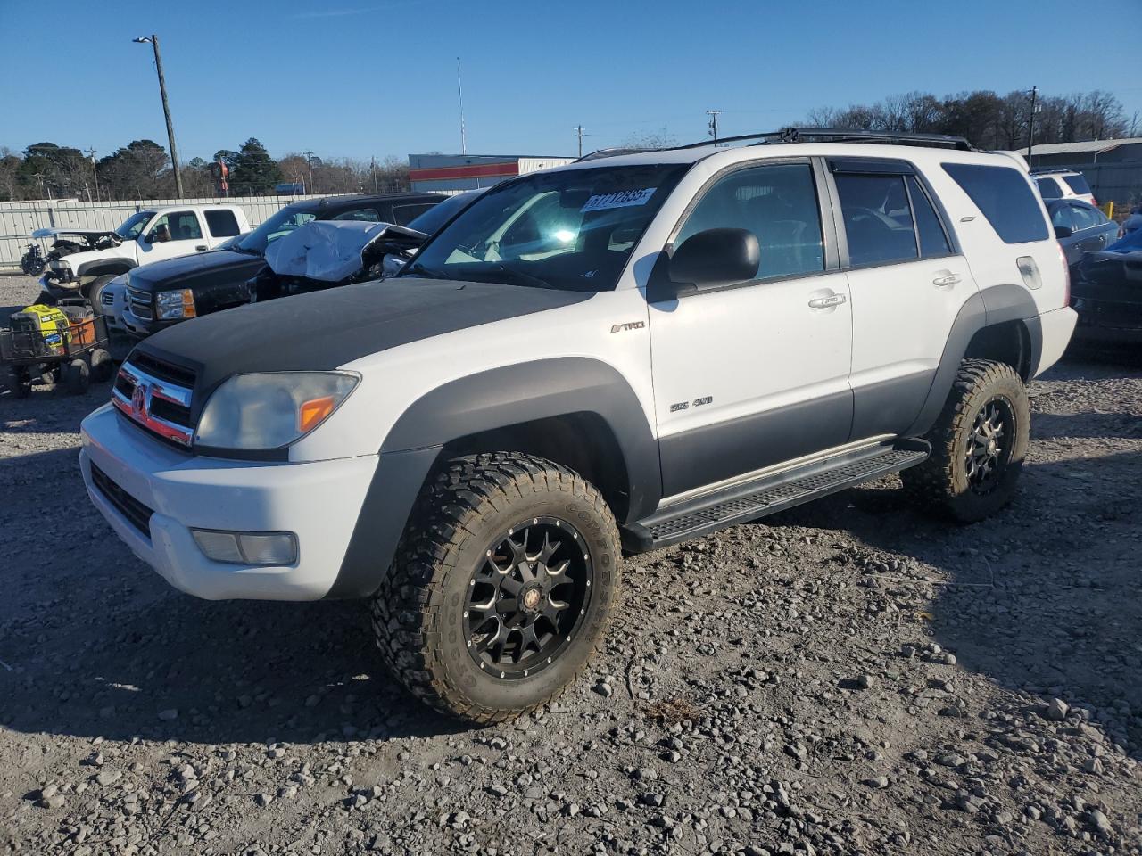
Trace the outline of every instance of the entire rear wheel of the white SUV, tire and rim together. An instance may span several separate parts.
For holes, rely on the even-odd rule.
[[[1002,430],[991,429],[989,437],[984,423],[996,418]],[[932,457],[901,474],[904,487],[959,523],[990,517],[1015,495],[1030,428],[1027,388],[1015,370],[991,360],[965,360],[927,434]]]

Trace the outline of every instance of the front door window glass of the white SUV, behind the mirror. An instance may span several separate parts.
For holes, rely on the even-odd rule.
[[[719,178],[694,205],[674,245],[713,228],[749,229],[757,236],[756,280],[825,269],[821,213],[807,163],[749,167]]]

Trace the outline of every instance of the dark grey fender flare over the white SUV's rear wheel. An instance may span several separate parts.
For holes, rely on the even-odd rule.
[[[981,330],[1012,321],[1022,324],[1031,346],[1030,365],[1034,372],[1043,354],[1043,329],[1038,315],[1039,309],[1031,294],[1026,288],[1014,283],[994,285],[972,294],[964,301],[951,324],[924,405],[904,436],[923,436],[935,425],[940,411],[948,401],[948,394],[951,391],[967,347]]]

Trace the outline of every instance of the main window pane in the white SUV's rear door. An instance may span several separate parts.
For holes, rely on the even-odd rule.
[[[904,176],[836,176],[849,264],[883,265],[918,257]]]

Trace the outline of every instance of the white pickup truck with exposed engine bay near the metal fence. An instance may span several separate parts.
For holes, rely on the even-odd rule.
[[[238,205],[174,205],[137,211],[116,229],[38,229],[55,239],[40,285],[48,297],[82,294],[99,305],[99,290],[139,265],[215,250],[250,228]]]

